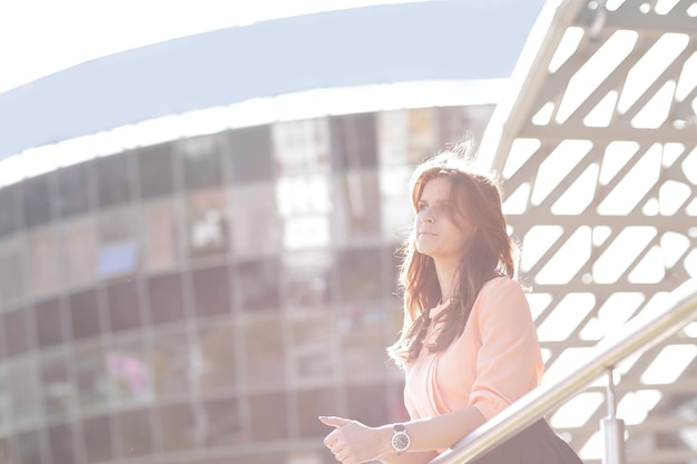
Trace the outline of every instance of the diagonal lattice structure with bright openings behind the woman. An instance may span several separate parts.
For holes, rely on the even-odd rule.
[[[504,180],[548,375],[697,275],[697,2],[553,1],[482,154]],[[617,368],[630,463],[697,460],[697,324]],[[550,417],[601,457],[605,382]]]

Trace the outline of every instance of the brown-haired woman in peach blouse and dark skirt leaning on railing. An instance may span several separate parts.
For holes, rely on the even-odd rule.
[[[538,386],[542,375],[494,180],[469,170],[467,146],[460,146],[419,166],[410,187],[415,219],[402,248],[404,324],[387,352],[404,369],[411,419],[370,427],[320,417],[334,427],[324,444],[344,464],[428,463]],[[540,421],[481,462],[580,460]]]

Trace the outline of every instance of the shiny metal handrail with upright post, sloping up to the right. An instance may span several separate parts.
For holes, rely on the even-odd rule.
[[[612,371],[621,361],[658,345],[695,318],[697,318],[697,278],[691,278],[668,295],[665,309],[645,310],[630,319],[613,336],[600,340],[585,361],[546,379],[538,388],[467,435],[430,464],[464,464],[483,455],[581,393],[603,374],[609,374],[609,417],[601,424],[606,441],[603,463],[622,464],[624,424],[615,417]]]

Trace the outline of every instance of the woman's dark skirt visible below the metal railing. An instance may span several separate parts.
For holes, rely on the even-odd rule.
[[[541,419],[474,460],[472,464],[583,464],[576,452]]]

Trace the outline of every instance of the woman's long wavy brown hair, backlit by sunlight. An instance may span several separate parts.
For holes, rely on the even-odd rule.
[[[434,178],[449,179],[453,205],[477,228],[472,244],[460,260],[454,298],[439,315],[438,322],[443,328],[428,346],[431,353],[445,349],[462,334],[484,283],[497,276],[513,278],[516,274],[516,244],[507,230],[500,185],[493,175],[474,172],[470,150],[470,144],[461,144],[442,151],[416,167],[410,180],[412,206],[418,211],[425,185]],[[399,251],[404,323],[399,339],[387,353],[403,367],[419,356],[431,324],[429,310],[438,305],[442,295],[433,258],[416,250],[413,226]]]

